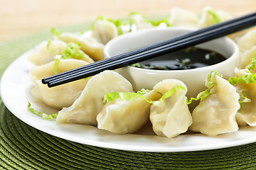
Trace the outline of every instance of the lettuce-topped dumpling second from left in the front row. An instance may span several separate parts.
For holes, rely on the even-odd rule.
[[[117,134],[137,132],[149,121],[151,101],[160,97],[160,94],[144,89],[137,93],[107,94],[108,102],[97,115],[97,127]]]

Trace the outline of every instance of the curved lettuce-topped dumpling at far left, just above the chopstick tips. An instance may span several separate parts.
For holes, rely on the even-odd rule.
[[[43,41],[36,46],[28,55],[28,60],[35,65],[43,65],[55,60],[55,55],[63,55],[63,57],[84,60],[85,62],[94,62],[85,52],[80,50],[80,45],[70,42],[66,44],[61,40]]]

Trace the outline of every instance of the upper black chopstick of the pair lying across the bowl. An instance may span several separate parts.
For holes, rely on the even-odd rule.
[[[255,13],[249,13],[245,16],[240,16],[239,18],[234,18],[233,20],[230,20],[230,21],[225,21],[223,23],[218,23],[218,24],[215,24],[213,26],[209,26],[209,27],[206,27],[206,28],[203,28],[203,29],[200,29],[200,30],[196,30],[196,31],[193,31],[191,33],[187,33],[187,34],[183,34],[183,35],[180,35],[176,38],[171,38],[170,40],[164,40],[163,42],[159,42],[157,44],[154,44],[154,45],[149,45],[149,46],[146,46],[146,47],[142,47],[142,48],[139,48],[137,50],[133,50],[131,52],[126,52],[124,54],[121,54],[121,55],[118,55],[116,57],[110,57],[108,59],[105,59],[105,60],[100,60],[98,62],[94,62],[92,64],[87,64],[83,67],[79,67],[79,68],[76,68],[76,69],[72,69],[70,71],[67,71],[67,72],[63,72],[63,73],[60,73],[60,74],[56,74],[52,77],[47,77],[45,79],[42,79],[42,82],[43,84],[47,84],[48,82],[50,81],[54,81],[56,79],[60,79],[61,77],[67,77],[68,75],[72,75],[72,74],[75,74],[77,72],[81,72],[82,70],[85,70],[85,69],[90,69],[90,68],[93,68],[99,64],[105,64],[105,63],[108,63],[108,62],[112,62],[114,60],[117,60],[117,57],[120,59],[120,58],[123,58],[123,57],[127,57],[127,56],[130,56],[130,55],[136,55],[140,52],[144,52],[146,50],[151,50],[151,49],[154,49],[155,47],[160,47],[160,46],[163,46],[163,45],[166,45],[166,44],[170,44],[170,43],[178,43],[178,40],[182,40],[184,38],[188,38],[188,37],[191,37],[193,35],[198,35],[199,33],[204,33],[208,30],[213,30],[215,28],[219,28],[220,26],[225,26],[227,24],[230,24],[230,23],[234,23],[234,22],[237,22],[237,21],[241,21],[245,18],[250,18],[252,16],[256,16],[256,12]]]

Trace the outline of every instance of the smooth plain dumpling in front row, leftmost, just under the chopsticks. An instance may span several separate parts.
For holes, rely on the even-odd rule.
[[[104,96],[113,91],[132,92],[132,84],[114,71],[106,70],[96,74],[88,81],[73,105],[59,112],[57,122],[96,126],[96,116],[105,105]]]

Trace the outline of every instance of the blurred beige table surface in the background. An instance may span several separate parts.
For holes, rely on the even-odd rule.
[[[97,16],[122,17],[131,11],[168,14],[171,7],[201,13],[211,6],[240,16],[255,11],[255,0],[0,0],[0,42],[53,26],[93,21]]]

